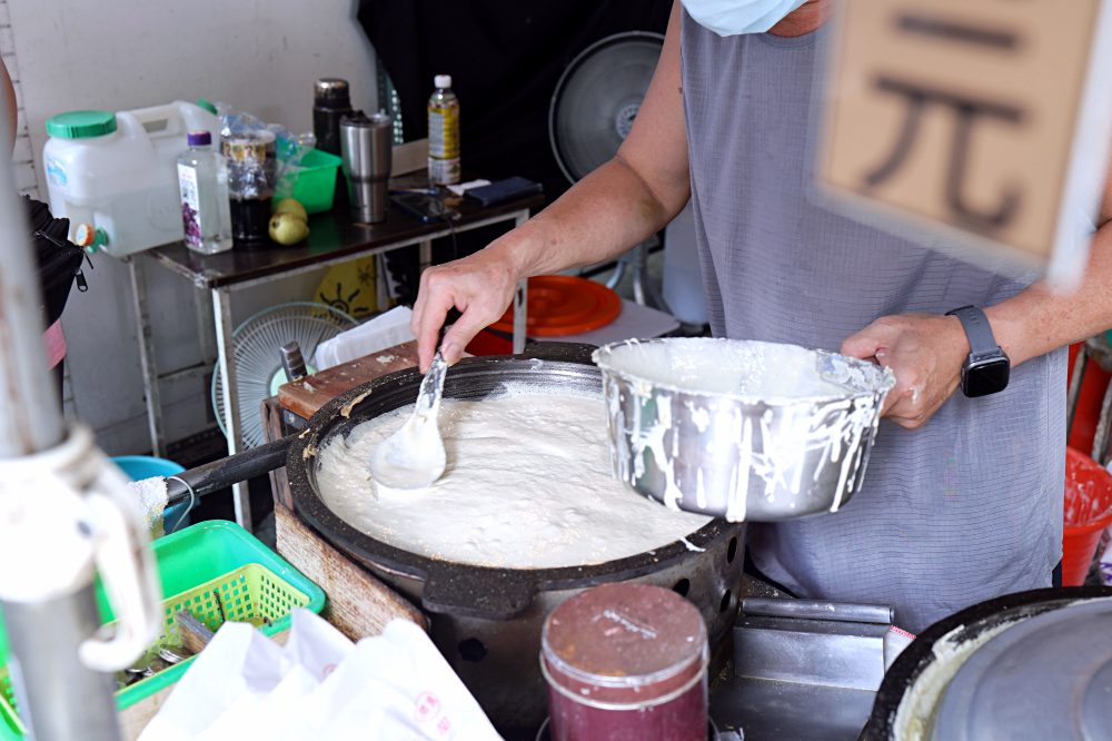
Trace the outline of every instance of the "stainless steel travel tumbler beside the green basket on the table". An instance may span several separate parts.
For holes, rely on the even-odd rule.
[[[393,140],[394,121],[384,112],[368,117],[357,111],[340,119],[340,157],[359,221],[386,220]]]

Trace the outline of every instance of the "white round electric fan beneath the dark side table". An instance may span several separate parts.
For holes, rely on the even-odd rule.
[[[358,322],[327,304],[291,302],[259,312],[232,333],[231,346],[236,364],[236,399],[239,404],[239,423],[242,427],[244,449],[261,445],[262,402],[278,393],[286,383],[281,366],[280,348],[296,342],[307,360],[309,373],[315,373],[311,359],[317,345],[350,329]],[[227,435],[224,406],[224,375],[217,363],[212,372],[212,409],[220,431]]]

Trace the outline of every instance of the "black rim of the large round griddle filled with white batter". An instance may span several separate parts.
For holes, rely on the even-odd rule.
[[[513,384],[549,386],[554,393],[602,394],[598,369],[590,364],[589,346],[540,346],[532,356],[466,358],[448,372],[447,398],[478,401],[506,393]],[[317,493],[316,453],[351,428],[401,406],[413,404],[421,376],[401,370],[336,397],[312,416],[290,447],[286,468],[298,514],[328,541],[376,571],[421,584],[419,601],[428,611],[453,615],[505,620],[523,613],[542,591],[583,589],[609,581],[627,581],[703,556],[712,544],[741,540],[743,528],[715,520],[692,533],[684,543],[599,564],[560,569],[495,569],[429,559],[363,533],[325,504]],[[637,496],[631,492],[631,496]],[[415,512],[415,516],[418,513]],[[523,523],[523,526],[528,526]],[[737,542],[734,549],[744,543]],[[739,560],[738,560],[739,561]]]

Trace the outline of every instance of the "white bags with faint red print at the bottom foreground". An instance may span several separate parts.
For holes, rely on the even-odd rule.
[[[140,741],[495,741],[499,737],[424,631],[404,620],[353,645],[295,610],[279,646],[226,623]]]

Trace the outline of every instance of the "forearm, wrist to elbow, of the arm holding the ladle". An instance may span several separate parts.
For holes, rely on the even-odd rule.
[[[618,156],[488,249],[512,264],[519,278],[603,263],[663,229],[688,195],[686,187],[654,192]]]

